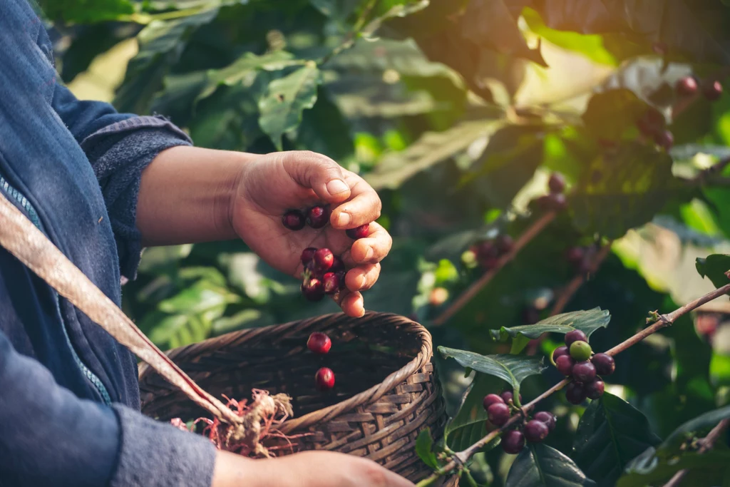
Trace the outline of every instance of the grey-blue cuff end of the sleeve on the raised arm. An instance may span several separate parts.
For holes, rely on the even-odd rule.
[[[111,218],[121,273],[134,280],[142,252],[137,199],[142,170],[165,149],[192,145],[191,139],[161,116],[131,117],[85,137],[86,153]]]

